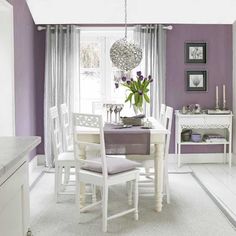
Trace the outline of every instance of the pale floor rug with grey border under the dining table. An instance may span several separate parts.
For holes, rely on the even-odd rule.
[[[171,204],[161,213],[154,209],[152,196],[140,196],[139,221],[133,215],[114,219],[105,235],[135,236],[235,236],[236,231],[227,218],[208,197],[191,174],[170,175]],[[101,211],[97,207],[76,222],[74,199],[66,196],[54,201],[54,174],[44,174],[31,191],[31,229],[34,236],[93,236],[101,231]],[[127,207],[125,186],[109,192],[111,212]]]

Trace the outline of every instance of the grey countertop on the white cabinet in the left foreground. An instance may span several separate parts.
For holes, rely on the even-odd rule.
[[[0,178],[40,142],[37,136],[0,137]]]

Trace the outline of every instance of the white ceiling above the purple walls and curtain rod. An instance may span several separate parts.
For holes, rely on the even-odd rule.
[[[124,0],[26,0],[36,24],[121,24]],[[236,0],[127,0],[128,23],[232,24]]]

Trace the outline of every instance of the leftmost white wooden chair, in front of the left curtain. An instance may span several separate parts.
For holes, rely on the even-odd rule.
[[[61,142],[61,129],[59,123],[59,115],[57,107],[50,108],[51,118],[51,134],[53,144],[53,154],[55,161],[55,195],[58,202],[59,195],[74,194],[73,191],[65,191],[65,186],[70,185],[66,180],[66,171],[71,167],[75,167],[75,159],[73,152],[64,152]],[[64,183],[62,183],[64,169]]]

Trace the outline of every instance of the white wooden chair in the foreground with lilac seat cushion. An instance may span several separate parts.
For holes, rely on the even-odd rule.
[[[90,114],[74,114],[73,115],[73,127],[74,127],[74,147],[75,147],[75,159],[76,159],[76,205],[78,208],[78,215],[91,207],[102,203],[102,229],[107,232],[107,222],[111,219],[123,216],[125,214],[134,212],[134,217],[138,220],[138,178],[139,170],[134,166],[123,170],[115,170],[111,174],[111,169],[114,168],[114,163],[119,162],[120,166],[123,163],[123,167],[127,167],[131,162],[122,158],[111,158],[105,155],[104,144],[104,132],[103,121],[100,115]],[[80,129],[94,128],[99,132],[99,139],[91,139],[91,142],[83,142],[82,133]],[[86,136],[86,141],[90,141]],[[86,159],[85,151],[87,145],[96,146],[100,148],[101,156],[97,158]],[[112,167],[113,166],[113,167]],[[115,166],[115,167],[116,167]],[[126,211],[120,212],[115,215],[108,216],[108,189],[112,185],[117,185],[126,182],[133,182],[134,184],[134,207]],[[102,201],[90,204],[83,208],[80,207],[80,189],[81,183],[95,184],[102,187]]]

